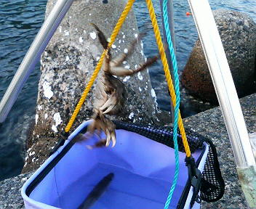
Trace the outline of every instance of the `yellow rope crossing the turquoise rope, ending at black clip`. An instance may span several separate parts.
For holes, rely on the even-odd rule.
[[[167,79],[167,85],[168,85],[169,92],[170,92],[170,95],[171,95],[171,98],[172,98],[172,105],[175,107],[175,104],[176,104],[175,89],[174,89],[174,86],[173,86],[173,83],[172,83],[171,74],[169,73],[169,65],[168,65],[168,62],[167,62],[167,57],[166,57],[165,52],[164,52],[164,45],[161,41],[159,25],[157,24],[157,21],[156,21],[156,14],[155,14],[155,11],[153,9],[152,1],[151,0],[145,0],[145,1],[147,3],[147,6],[148,6],[149,15],[151,16],[153,31],[154,31],[155,36],[156,36],[156,43],[159,46],[159,54],[160,54],[160,57],[161,57],[161,62],[163,63],[163,66],[164,66],[164,74],[165,74],[165,77]],[[183,145],[185,147],[185,153],[188,157],[190,157],[191,156],[191,150],[190,150],[189,145],[188,145],[187,136],[185,135],[185,129],[184,129],[184,126],[183,126],[183,120],[181,119],[180,111],[179,111],[178,126],[180,128],[180,134],[183,138]]]

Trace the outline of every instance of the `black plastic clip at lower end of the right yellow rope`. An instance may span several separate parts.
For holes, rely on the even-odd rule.
[[[191,181],[191,186],[193,187],[193,196],[191,199],[191,208],[196,202],[201,203],[201,197],[199,191],[201,188],[201,171],[196,168],[195,159],[191,157],[185,157],[185,165],[188,167],[188,178]]]

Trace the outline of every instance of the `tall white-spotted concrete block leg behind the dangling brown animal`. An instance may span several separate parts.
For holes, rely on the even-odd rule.
[[[48,1],[47,15],[54,4],[54,0]],[[110,37],[125,4],[124,0],[111,0],[108,4],[103,4],[100,0],[73,2],[41,57],[36,125],[28,139],[28,157],[25,159],[23,172],[38,168],[48,157],[60,134],[64,133],[64,128],[103,52],[95,29],[89,22],[95,23]],[[124,52],[138,33],[135,15],[130,12],[112,47],[113,57]],[[145,62],[142,47],[142,42],[137,44],[135,52],[124,62],[125,67],[134,69],[136,65]],[[124,105],[126,111],[121,112],[115,119],[132,123],[156,123],[159,112],[148,70],[121,80],[127,86],[127,101]],[[94,89],[95,85],[71,131],[84,120],[91,118]],[[164,123],[163,120],[161,122]]]

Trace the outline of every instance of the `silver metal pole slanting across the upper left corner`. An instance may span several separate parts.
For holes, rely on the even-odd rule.
[[[52,11],[49,13],[47,20],[41,26],[39,33],[36,35],[31,47],[28,49],[27,54],[23,58],[20,67],[17,69],[12,82],[9,84],[4,97],[0,102],[0,123],[4,122],[5,118],[11,110],[12,105],[17,99],[17,95],[20,93],[25,81],[31,74],[37,62],[39,62],[41,53],[44,52],[49,40],[52,38],[55,30],[60,25],[61,20],[68,12],[69,7],[74,0],[58,0]]]

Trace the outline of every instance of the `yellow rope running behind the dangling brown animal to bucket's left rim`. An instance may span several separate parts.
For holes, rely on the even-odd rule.
[[[121,25],[123,25],[124,20],[126,19],[129,10],[132,9],[132,4],[135,0],[129,0],[127,2],[127,5],[124,8],[124,11],[121,13],[121,16],[119,17],[119,21],[116,23],[116,27],[113,29],[113,33],[111,35],[111,41],[108,44],[108,49],[112,46],[113,42],[116,40],[116,36],[119,33],[119,30],[121,29]],[[97,66],[95,67],[95,71],[92,73],[92,77],[89,80],[89,83],[87,84],[87,87],[84,89],[84,93],[81,95],[81,99],[79,100],[79,103],[76,105],[76,109],[73,111],[73,115],[71,116],[71,119],[68,122],[68,125],[65,127],[65,132],[70,131],[71,126],[73,125],[73,121],[76,119],[76,115],[79,113],[79,110],[81,109],[81,105],[84,104],[84,100],[87,98],[87,94],[89,90],[92,88],[92,84],[95,82],[95,79],[97,78],[97,74],[100,71],[101,66],[103,65],[103,59],[105,57],[106,52],[108,52],[108,49],[105,49],[103,54],[101,54],[100,60],[97,63]]]

